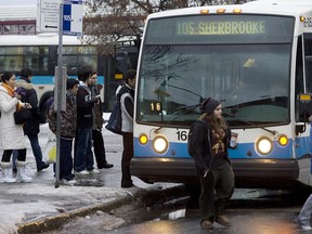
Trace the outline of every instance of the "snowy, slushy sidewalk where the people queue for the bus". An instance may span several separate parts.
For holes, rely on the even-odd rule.
[[[48,126],[41,126],[40,144],[46,146]],[[105,135],[105,134],[108,134]],[[0,183],[0,234],[39,233],[55,230],[68,219],[83,217],[98,210],[108,212],[126,204],[153,196],[162,188],[170,193],[174,184],[145,184],[134,178],[140,187],[120,187],[121,138],[104,132],[104,138],[114,142],[107,144],[106,153],[109,162],[115,166],[104,169],[100,174],[76,178],[78,185],[54,186],[52,165],[37,172],[30,144],[27,146],[27,174],[31,183]],[[117,140],[115,140],[115,138]],[[113,139],[113,140],[112,140]],[[28,142],[28,141],[27,141]],[[0,152],[2,155],[2,152]],[[173,191],[173,190],[172,190]]]

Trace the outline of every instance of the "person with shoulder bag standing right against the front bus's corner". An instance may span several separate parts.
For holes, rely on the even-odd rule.
[[[133,99],[135,88],[136,72],[127,70],[126,81],[121,88],[117,89],[117,95],[120,95],[121,104],[121,131],[123,152],[121,158],[121,187],[133,187],[133,181],[130,173],[130,161],[133,158]]]

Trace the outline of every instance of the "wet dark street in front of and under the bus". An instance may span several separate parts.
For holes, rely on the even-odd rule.
[[[213,230],[199,225],[198,207],[176,206],[122,207],[109,213],[96,212],[65,224],[49,234],[117,233],[117,234],[296,234],[301,231],[295,221],[304,195],[286,191],[236,190],[227,209],[233,226],[214,223]]]

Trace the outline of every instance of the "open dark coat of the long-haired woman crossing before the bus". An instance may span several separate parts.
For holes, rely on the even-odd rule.
[[[194,158],[197,173],[204,174],[207,169],[212,169],[210,167],[211,160],[213,160],[211,153],[212,130],[205,121],[196,121],[194,125],[192,134],[192,157]],[[225,130],[225,154],[227,161],[231,164],[227,153],[230,138],[231,130],[227,128]]]

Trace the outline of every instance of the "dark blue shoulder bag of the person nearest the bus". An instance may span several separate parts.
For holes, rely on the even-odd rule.
[[[121,118],[121,103],[120,103],[120,96],[129,92],[127,87],[121,87],[117,94],[116,103],[114,104],[112,114],[109,116],[109,119],[105,126],[105,128],[116,134],[122,134],[121,127],[122,127],[122,118]]]

